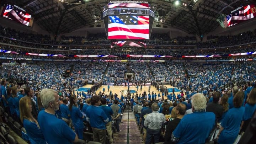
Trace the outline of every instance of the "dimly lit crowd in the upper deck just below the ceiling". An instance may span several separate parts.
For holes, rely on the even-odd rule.
[[[238,44],[246,44],[255,42],[254,31],[247,31],[232,36],[208,36],[207,42],[196,42],[196,37],[177,37],[170,39],[167,34],[151,34],[150,40],[145,41],[149,48],[154,49],[191,49],[193,47],[183,47],[191,45],[197,49],[204,48],[219,48],[229,47]],[[50,36],[42,34],[32,34],[19,32],[11,28],[0,26],[0,41],[17,46],[25,46],[30,48],[40,49],[57,49],[69,50],[70,47],[74,49],[89,48],[110,48],[110,41],[107,40],[105,33],[88,34],[87,37],[81,36],[62,36],[59,41],[53,40]],[[78,46],[80,45],[80,46]],[[170,47],[171,46],[171,47]],[[177,47],[180,46],[180,47]]]

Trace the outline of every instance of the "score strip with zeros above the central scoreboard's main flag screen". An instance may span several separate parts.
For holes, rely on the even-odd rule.
[[[149,15],[149,9],[138,9],[138,8],[108,9],[108,15]]]

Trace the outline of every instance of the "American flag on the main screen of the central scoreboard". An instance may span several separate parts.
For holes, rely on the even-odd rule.
[[[149,16],[108,16],[108,39],[149,39]]]

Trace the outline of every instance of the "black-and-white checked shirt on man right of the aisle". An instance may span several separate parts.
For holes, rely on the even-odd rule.
[[[158,130],[162,128],[162,124],[165,122],[165,116],[158,111],[153,111],[146,116],[144,126],[152,130]]]

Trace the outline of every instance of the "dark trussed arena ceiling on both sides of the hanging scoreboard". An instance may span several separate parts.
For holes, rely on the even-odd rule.
[[[68,3],[62,2],[66,1]],[[189,34],[201,35],[214,31],[218,21],[230,11],[255,0],[148,0],[155,11],[155,23],[178,28]],[[55,35],[101,22],[103,6],[108,0],[3,0],[26,9],[34,21]],[[78,4],[76,4],[78,3]],[[186,4],[187,6],[183,5]],[[98,20],[98,22],[95,22]]]

